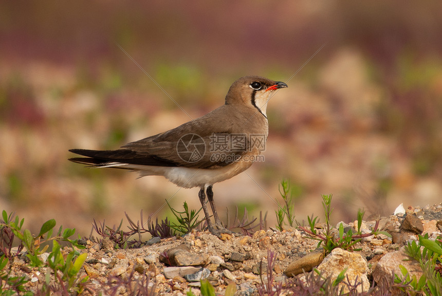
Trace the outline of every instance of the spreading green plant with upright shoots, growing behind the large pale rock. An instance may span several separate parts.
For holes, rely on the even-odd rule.
[[[349,229],[346,233],[344,233],[344,226],[342,223],[339,225],[337,235],[334,234],[334,227],[330,225],[330,216],[331,212],[333,212],[333,208],[331,208],[331,198],[332,195],[322,195],[322,208],[325,213],[325,231],[320,234],[315,228],[316,221],[318,217],[307,217],[308,225],[310,229],[306,229],[305,227],[300,226],[300,229],[308,233],[311,238],[317,239],[319,241],[318,248],[323,245],[325,253],[330,253],[335,248],[342,248],[344,250],[353,250],[354,246],[361,241],[361,238],[377,235],[377,234],[385,234],[387,236],[391,235],[385,231],[377,231],[379,226],[379,220],[376,221],[375,227],[372,229],[370,233],[361,233],[361,225],[362,218],[364,216],[364,211],[358,210],[358,225],[356,233],[353,232],[352,229]]]

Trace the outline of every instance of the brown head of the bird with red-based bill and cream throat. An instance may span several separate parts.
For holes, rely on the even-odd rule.
[[[226,96],[226,105],[242,105],[256,108],[267,117],[267,102],[274,90],[287,87],[280,81],[273,81],[260,76],[242,77],[230,86]]]

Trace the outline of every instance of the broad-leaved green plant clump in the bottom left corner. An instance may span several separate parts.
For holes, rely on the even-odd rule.
[[[47,220],[41,227],[39,234],[32,235],[29,229],[23,229],[24,219],[12,214],[2,212],[2,222],[0,223],[0,231],[4,234],[0,236],[0,246],[3,252],[0,258],[0,295],[13,295],[16,293],[24,295],[32,295],[30,291],[26,291],[24,284],[28,281],[25,277],[10,277],[10,271],[5,272],[4,269],[10,262],[10,258],[18,256],[22,249],[26,248],[26,257],[29,260],[30,266],[49,267],[54,274],[51,278],[51,273],[46,274],[46,282],[42,286],[39,293],[49,295],[54,291],[64,291],[63,294],[68,294],[75,291],[80,293],[84,290],[87,283],[87,276],[79,278],[78,274],[80,268],[86,260],[87,253],[83,253],[77,257],[75,261],[73,258],[78,255],[77,249],[82,249],[84,246],[78,243],[77,239],[70,237],[75,234],[75,229],[63,229],[61,226],[56,235],[52,236],[53,228],[56,226],[54,219]],[[14,239],[19,239],[19,251],[11,252],[12,242]],[[61,253],[60,242],[69,243],[72,250],[66,258]],[[48,260],[43,262],[41,254],[46,252],[49,244],[52,243],[52,251],[48,255]],[[62,275],[59,274],[59,271]],[[54,281],[59,286],[52,284]]]

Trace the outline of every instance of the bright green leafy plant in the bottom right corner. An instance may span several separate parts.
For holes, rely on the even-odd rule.
[[[406,253],[416,260],[423,274],[417,279],[416,275],[409,274],[408,270],[400,265],[402,276],[395,275],[395,283],[406,283],[400,289],[405,292],[421,293],[425,295],[442,295],[442,272],[440,262],[442,261],[442,239],[435,241],[419,235],[419,243],[415,241],[408,243],[405,247]],[[439,269],[436,266],[439,265]]]

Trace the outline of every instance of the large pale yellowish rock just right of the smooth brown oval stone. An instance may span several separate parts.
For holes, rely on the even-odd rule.
[[[347,271],[345,272],[343,282],[348,281],[347,283],[350,285],[355,285],[355,282],[361,283],[357,287],[358,292],[370,289],[370,282],[367,278],[369,268],[367,267],[367,262],[360,254],[336,248],[318,266],[321,275],[325,278],[331,277],[332,280],[335,280],[344,269],[347,269]],[[344,287],[344,292],[347,293],[349,292],[348,288],[343,282],[340,284],[340,287]]]

